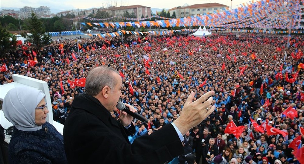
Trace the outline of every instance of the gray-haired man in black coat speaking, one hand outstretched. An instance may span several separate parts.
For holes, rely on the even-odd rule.
[[[75,97],[64,124],[64,149],[69,163],[168,163],[184,153],[183,135],[210,115],[214,91],[192,102],[191,92],[182,113],[174,123],[136,138],[133,117],[125,110],[136,112],[131,105],[120,112],[119,120],[110,112],[116,109],[123,85],[119,72],[100,66],[86,78],[85,93]],[[204,102],[204,103],[203,103]]]

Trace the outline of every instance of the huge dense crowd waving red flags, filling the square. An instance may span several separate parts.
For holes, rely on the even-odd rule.
[[[0,83],[12,82],[12,74],[46,81],[53,119],[64,124],[74,97],[85,92],[85,87],[75,87],[70,81],[85,78],[94,67],[112,67],[123,78],[121,101],[149,120],[148,124],[134,120],[131,143],[174,122],[190,92],[195,100],[214,90],[215,112],[185,134],[185,154],[175,161],[299,163],[295,148],[288,144],[298,136],[304,143],[302,36],[292,36],[289,48],[287,36],[270,34],[130,35],[123,39],[122,43],[121,37],[81,38],[79,44],[76,39],[58,39],[37,53],[34,64],[29,61],[35,59],[32,46],[20,45],[0,59],[8,67],[0,73]],[[295,118],[283,113],[289,106],[296,110]],[[111,115],[118,119],[119,113]],[[259,132],[251,119],[288,135]],[[238,138],[225,133],[231,121],[244,126]]]

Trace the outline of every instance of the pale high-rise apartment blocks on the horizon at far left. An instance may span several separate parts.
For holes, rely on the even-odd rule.
[[[29,18],[32,12],[35,13],[38,18],[50,18],[51,16],[51,10],[47,6],[40,6],[39,8],[24,6],[20,8],[20,19]]]

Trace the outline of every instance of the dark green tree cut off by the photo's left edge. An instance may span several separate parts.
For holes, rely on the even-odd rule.
[[[12,39],[12,40],[10,40]],[[16,36],[10,35],[9,32],[2,27],[0,23],[0,57],[4,57],[11,50],[16,49]]]

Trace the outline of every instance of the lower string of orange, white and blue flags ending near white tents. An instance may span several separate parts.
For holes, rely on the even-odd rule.
[[[150,34],[150,35],[169,35],[175,32],[195,32],[197,29],[181,29],[181,30],[168,30],[168,31],[147,31],[147,32],[136,32],[136,31],[126,31],[126,30],[121,30],[118,32],[110,32],[110,33],[103,33],[103,34],[85,34],[89,36],[96,35],[99,38],[105,38],[105,37],[116,37],[120,35],[143,35],[143,34]]]

